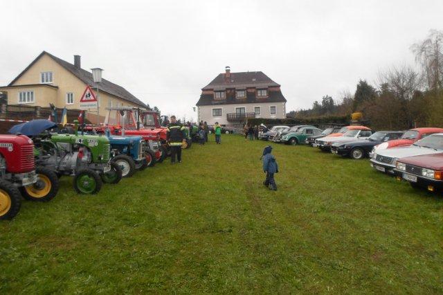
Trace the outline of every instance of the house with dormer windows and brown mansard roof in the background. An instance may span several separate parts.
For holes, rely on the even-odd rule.
[[[199,121],[209,125],[240,127],[248,118],[285,118],[286,98],[262,71],[231,73],[226,66],[201,89],[197,111]]]

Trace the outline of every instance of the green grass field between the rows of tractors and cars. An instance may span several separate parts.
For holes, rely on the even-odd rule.
[[[213,138],[212,138],[213,140]],[[0,222],[0,293],[443,292],[443,197],[306,146],[222,136]]]

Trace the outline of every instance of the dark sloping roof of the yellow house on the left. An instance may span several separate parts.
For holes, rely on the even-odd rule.
[[[35,60],[33,60],[33,62],[31,62],[26,69],[24,69],[24,71],[22,71],[21,73],[19,73],[19,75],[12,80],[12,82],[10,82],[8,84],[8,86],[12,86],[12,84],[14,84],[20,77],[21,75],[23,75],[24,73],[26,73],[26,71],[28,71],[28,69],[30,69],[31,66],[33,66],[33,64],[35,64],[35,62],[37,62],[37,60],[39,60],[40,57],[42,57],[43,55],[48,55],[49,57],[51,57],[53,60],[55,60],[55,62],[57,62],[57,64],[60,64],[60,66],[63,66],[64,69],[66,69],[67,71],[70,71],[73,75],[75,75],[75,77],[77,77],[78,79],[82,80],[82,82],[84,82],[84,84],[88,84],[88,85],[93,85],[93,77],[92,77],[92,73],[90,73],[89,71],[86,71],[84,69],[79,69],[76,66],[74,66],[73,64],[66,62],[65,60],[62,60],[54,55],[52,55],[51,53],[47,53],[46,51],[43,51],[42,53],[39,54],[39,56],[37,56],[35,58]],[[136,98],[135,96],[133,96],[131,93],[129,93],[129,91],[127,91],[125,88],[114,84],[113,82],[110,82],[106,79],[102,79],[102,82],[100,83],[100,91],[106,92],[111,94],[112,96],[116,96],[118,98],[121,98],[123,100],[127,100],[129,102],[133,102],[134,104],[140,106],[140,107],[146,107],[149,108],[149,105],[146,105],[144,102],[142,102],[141,100],[139,100],[138,98]]]

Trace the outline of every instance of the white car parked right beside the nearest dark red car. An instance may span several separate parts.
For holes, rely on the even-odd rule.
[[[370,159],[370,165],[375,170],[394,175],[398,159],[424,154],[439,154],[441,152],[443,152],[443,133],[436,133],[426,136],[409,146],[378,150],[374,157]]]

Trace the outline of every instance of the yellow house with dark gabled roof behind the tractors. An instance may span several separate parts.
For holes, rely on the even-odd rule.
[[[96,93],[92,73],[82,69],[80,55],[74,55],[71,64],[43,51],[8,86],[0,87],[0,91],[6,93],[8,105],[49,107],[53,103],[59,109],[80,109],[80,98],[87,85]],[[148,108],[129,91],[108,80],[102,79],[98,87],[100,122],[109,114],[106,107]],[[110,114],[110,118],[115,116]],[[87,118],[97,123],[97,108],[87,109]]]

